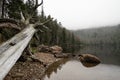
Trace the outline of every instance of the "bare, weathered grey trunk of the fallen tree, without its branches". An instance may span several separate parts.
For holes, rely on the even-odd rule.
[[[4,79],[9,70],[21,56],[35,33],[33,24],[0,46],[0,80]]]

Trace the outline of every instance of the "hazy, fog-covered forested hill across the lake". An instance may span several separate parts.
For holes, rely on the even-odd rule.
[[[120,25],[74,31],[87,44],[120,44]]]

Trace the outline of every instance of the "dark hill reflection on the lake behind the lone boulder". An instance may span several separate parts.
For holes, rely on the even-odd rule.
[[[96,55],[104,64],[120,65],[120,49],[114,46],[86,46],[78,53]]]

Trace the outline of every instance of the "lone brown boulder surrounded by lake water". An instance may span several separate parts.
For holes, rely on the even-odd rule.
[[[91,54],[81,54],[79,55],[79,59],[81,62],[87,62],[87,63],[99,64],[101,62],[98,57]]]

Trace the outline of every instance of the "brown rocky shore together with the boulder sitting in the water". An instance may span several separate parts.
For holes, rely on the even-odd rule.
[[[4,80],[42,80],[51,64],[70,56],[80,59],[86,67],[96,66],[101,62],[98,57],[91,54],[70,55],[63,53],[59,46],[41,45],[34,54],[23,54]]]

